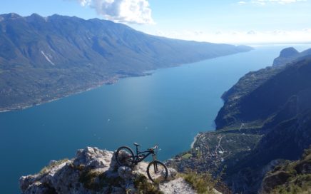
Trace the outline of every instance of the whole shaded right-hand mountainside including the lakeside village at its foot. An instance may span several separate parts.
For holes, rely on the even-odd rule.
[[[200,133],[171,166],[225,170],[233,193],[258,193],[268,171],[311,145],[310,99],[311,57],[247,73],[223,94],[217,130]]]

